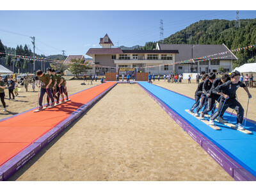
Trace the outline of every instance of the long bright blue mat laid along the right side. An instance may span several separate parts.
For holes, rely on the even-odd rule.
[[[195,103],[195,100],[180,95],[179,93],[166,90],[154,84],[140,82],[141,86],[162,100],[169,108],[178,113],[184,120],[192,125],[197,131],[208,138],[212,143],[221,148],[223,152],[232,157],[243,168],[248,170],[256,177],[256,125],[251,122],[246,122],[246,129],[252,131],[253,134],[244,134],[236,131],[226,125],[216,123],[221,127],[221,131],[215,131],[204,122],[201,122],[194,116],[190,115],[185,109],[190,109]],[[185,90],[186,91],[186,90]],[[243,106],[246,111],[246,106]],[[236,111],[234,112],[236,113]],[[250,113],[250,111],[248,111]],[[230,120],[230,123],[236,124],[236,116],[225,113],[225,120]],[[244,124],[244,122],[243,122]]]

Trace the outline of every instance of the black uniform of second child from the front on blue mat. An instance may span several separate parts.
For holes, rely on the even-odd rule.
[[[208,97],[207,108],[204,109],[204,111],[202,112],[203,114],[206,114],[212,110],[215,111],[215,109],[216,109],[216,106],[214,106],[215,100],[218,100],[220,98],[220,95],[218,95],[217,93],[212,93],[212,90],[214,90],[214,88],[216,88],[220,84],[222,84],[221,78],[214,79],[214,81],[212,82],[211,89],[208,91],[210,96]],[[213,108],[213,106],[214,106],[214,108]]]

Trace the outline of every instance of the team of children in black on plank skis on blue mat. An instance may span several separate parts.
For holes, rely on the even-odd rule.
[[[223,115],[227,108],[236,110],[237,112],[237,123],[236,128],[244,130],[243,116],[244,109],[236,99],[236,90],[239,87],[243,87],[248,95],[248,98],[252,98],[252,95],[248,91],[247,86],[239,81],[240,72],[237,70],[232,72],[230,76],[223,74],[221,78],[216,79],[216,74],[213,72],[204,74],[202,82],[198,84],[195,92],[195,104],[190,109],[191,113],[194,113],[196,108],[195,116],[200,116],[200,110],[204,108],[201,113],[201,117],[211,112],[211,118],[209,125],[214,125],[214,119],[218,118],[220,123],[226,123],[223,119]],[[216,109],[216,102],[219,102],[218,110]]]

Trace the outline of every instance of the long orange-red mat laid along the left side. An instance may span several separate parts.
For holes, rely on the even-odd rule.
[[[113,84],[115,82],[103,83],[70,95],[70,102],[55,108],[38,113],[31,110],[0,122],[0,166]]]

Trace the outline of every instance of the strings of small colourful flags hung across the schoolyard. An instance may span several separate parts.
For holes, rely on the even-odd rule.
[[[243,51],[243,50],[250,49],[250,48],[253,48],[253,47],[255,47],[255,45],[248,45],[248,46],[241,47],[241,48],[238,48],[238,49],[233,49],[233,50],[225,51],[225,52],[219,52],[219,53],[216,53],[216,54],[210,54],[208,56],[193,58],[193,59],[190,59],[190,60],[177,61],[177,62],[174,62],[174,63],[166,63],[166,64],[161,64],[161,65],[154,65],[154,66],[147,66],[147,67],[140,67],[140,68],[162,67],[162,66],[167,66],[167,65],[185,64],[185,63],[191,63],[191,62],[195,63],[195,61],[220,60],[220,59],[228,58],[228,56],[221,56],[221,55],[228,54],[229,52]],[[0,52],[0,54],[7,54],[7,55],[10,55],[10,56],[15,56],[15,57],[17,57],[17,61],[19,61],[20,58],[23,59],[23,60],[28,60],[28,61],[34,60],[33,56],[22,56],[22,55],[16,55],[16,54],[9,54],[9,53],[5,53],[5,52]],[[214,56],[219,56],[219,57],[212,58]],[[35,56],[35,60],[36,61],[48,61],[48,62],[52,62],[52,63],[63,63],[64,62],[64,61],[60,61],[60,60],[51,60],[51,59],[40,58],[40,57],[36,57],[36,56]],[[81,63],[75,63],[75,62],[71,62],[71,61],[68,61],[66,63],[67,64],[86,65],[88,67],[93,67],[94,66],[94,67],[105,67],[105,68],[118,68],[118,67],[109,67],[109,66],[104,66],[104,65],[88,64],[88,63],[87,64],[85,64],[85,63],[81,64]]]

